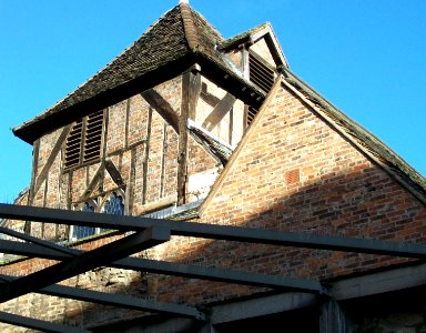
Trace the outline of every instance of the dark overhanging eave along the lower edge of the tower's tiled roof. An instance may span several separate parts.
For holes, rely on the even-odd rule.
[[[264,100],[262,90],[217,64],[214,60],[203,53],[193,51],[134,80],[103,91],[93,98],[87,99],[67,109],[57,112],[47,111],[14,128],[13,134],[21,140],[33,144],[33,142],[43,134],[54,131],[55,129],[67,125],[92,112],[113,105],[136,93],[141,93],[164,81],[171,80],[182,74],[195,63],[201,65],[201,73],[203,75],[221,88],[230,91],[244,103],[255,108],[258,108],[262,104]]]

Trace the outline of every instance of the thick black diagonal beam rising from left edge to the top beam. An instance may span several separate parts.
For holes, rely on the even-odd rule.
[[[111,261],[116,261],[169,240],[170,230],[161,226],[150,228],[125,236],[12,282],[0,284],[0,303],[29,292],[36,292],[41,287],[105,265]]]

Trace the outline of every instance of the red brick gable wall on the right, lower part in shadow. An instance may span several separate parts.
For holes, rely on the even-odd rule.
[[[424,205],[291,92],[280,88],[257,118],[209,196],[201,221],[426,241]],[[174,244],[168,245],[166,260],[321,280],[400,262],[386,256],[181,238]],[[184,279],[161,278],[159,285],[159,293],[173,301],[187,301],[191,295],[191,301],[207,302],[253,292]]]

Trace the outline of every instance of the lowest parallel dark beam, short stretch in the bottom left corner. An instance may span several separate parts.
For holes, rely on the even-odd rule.
[[[28,316],[18,314],[11,314],[8,312],[0,312],[0,322],[8,323],[17,326],[22,326],[31,330],[39,330],[42,332],[58,332],[58,333],[87,333],[83,329],[75,326],[67,326],[61,324],[54,324],[47,321],[36,320]]]

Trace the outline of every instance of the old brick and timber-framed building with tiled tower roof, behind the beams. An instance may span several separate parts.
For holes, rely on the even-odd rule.
[[[180,3],[14,134],[33,145],[31,184],[18,204],[344,242],[426,241],[426,180],[298,79],[268,23],[224,39]],[[124,235],[51,221],[3,226],[83,251]],[[424,254],[364,252],[173,235],[136,258],[317,281],[326,292],[102,265],[62,284],[206,309],[210,320],[43,293],[0,310],[100,332],[426,332]],[[3,256],[0,270],[23,276],[51,265]]]

